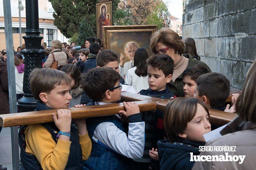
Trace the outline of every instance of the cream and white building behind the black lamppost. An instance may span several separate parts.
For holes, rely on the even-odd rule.
[[[25,0],[21,0],[24,10],[20,12],[21,16],[21,35],[24,36],[26,30],[26,3]],[[39,3],[39,29],[41,36],[43,37],[42,43],[46,42],[47,47],[51,46],[51,41],[58,39],[62,42],[67,41],[67,39],[60,33],[58,28],[54,25],[54,17],[52,13],[54,12],[51,3],[48,0],[38,0]],[[0,7],[3,9],[3,1],[0,2]],[[12,9],[12,27],[13,27],[13,45],[16,51],[18,46],[20,46],[19,40],[19,9],[18,0],[11,0]],[[4,13],[3,10],[0,11],[0,50],[6,49],[5,45],[5,33],[4,33]],[[22,38],[22,43],[24,43]]]

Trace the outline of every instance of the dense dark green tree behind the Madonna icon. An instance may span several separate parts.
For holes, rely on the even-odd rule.
[[[99,0],[49,0],[55,10],[53,14],[54,25],[67,38],[73,37],[79,32],[82,18],[86,17],[88,25],[91,25],[96,33],[96,3]],[[120,0],[112,0],[113,16]],[[94,17],[94,19],[92,19]]]

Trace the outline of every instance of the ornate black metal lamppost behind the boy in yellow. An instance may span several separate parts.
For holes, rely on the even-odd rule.
[[[36,108],[36,101],[30,90],[29,75],[34,68],[42,68],[42,57],[45,53],[41,49],[43,37],[40,36],[39,30],[38,0],[26,0],[25,33],[26,35],[22,38],[25,40],[26,49],[21,51],[25,56],[23,79],[24,97],[20,98],[17,104],[20,112],[29,112]]]

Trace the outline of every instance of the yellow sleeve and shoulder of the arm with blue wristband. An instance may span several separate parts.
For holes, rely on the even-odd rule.
[[[58,139],[57,144],[50,132],[42,125],[30,125],[25,130],[26,152],[35,155],[42,169],[65,169],[71,141]]]

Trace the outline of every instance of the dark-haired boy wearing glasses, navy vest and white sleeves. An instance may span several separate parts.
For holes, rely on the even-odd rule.
[[[94,68],[82,74],[82,88],[93,99],[90,105],[106,105],[121,99],[120,75],[109,67]],[[92,151],[83,165],[89,169],[131,169],[131,161],[143,155],[145,122],[136,103],[123,102],[129,119],[128,137],[119,115],[93,117],[87,120]],[[132,159],[131,159],[132,158]]]

